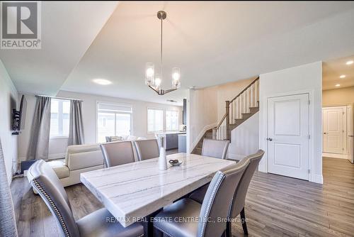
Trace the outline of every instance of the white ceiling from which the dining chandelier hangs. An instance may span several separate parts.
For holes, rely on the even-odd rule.
[[[42,43],[47,47],[33,50],[41,52],[1,51],[19,91],[62,89],[181,104],[189,87],[354,55],[353,1],[123,1],[116,8],[101,2],[65,4],[43,4],[42,14],[48,17],[42,19]],[[167,12],[162,86],[171,86],[172,67],[181,68],[182,83],[164,96],[144,84],[145,63],[159,68],[159,10]],[[59,30],[64,35],[58,36]],[[61,47],[57,37],[67,45]],[[113,84],[94,84],[96,78]]]

